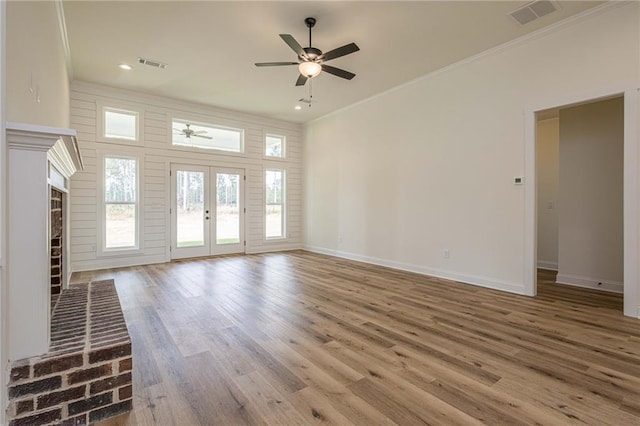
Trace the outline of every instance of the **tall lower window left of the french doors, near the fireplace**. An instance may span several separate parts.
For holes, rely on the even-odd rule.
[[[138,248],[138,160],[104,157],[104,250]]]

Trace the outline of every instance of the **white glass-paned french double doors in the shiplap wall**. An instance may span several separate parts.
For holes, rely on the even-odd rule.
[[[171,258],[244,253],[244,170],[171,165]]]

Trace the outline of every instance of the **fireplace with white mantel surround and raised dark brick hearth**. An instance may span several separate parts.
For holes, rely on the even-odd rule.
[[[113,281],[68,285],[75,131],[7,123],[10,426],[131,410],[131,341]],[[4,407],[3,407],[4,409]]]

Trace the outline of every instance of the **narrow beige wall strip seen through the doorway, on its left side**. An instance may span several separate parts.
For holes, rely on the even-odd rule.
[[[537,122],[538,267],[558,269],[559,119]]]

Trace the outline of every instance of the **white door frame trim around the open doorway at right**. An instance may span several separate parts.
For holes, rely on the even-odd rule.
[[[533,105],[524,110],[524,293],[535,296],[537,288],[537,218],[536,218],[536,112],[568,105],[579,105],[624,95],[624,315],[640,318],[640,230],[638,207],[640,188],[640,140],[638,121],[640,97],[637,82],[590,93],[555,99]]]

